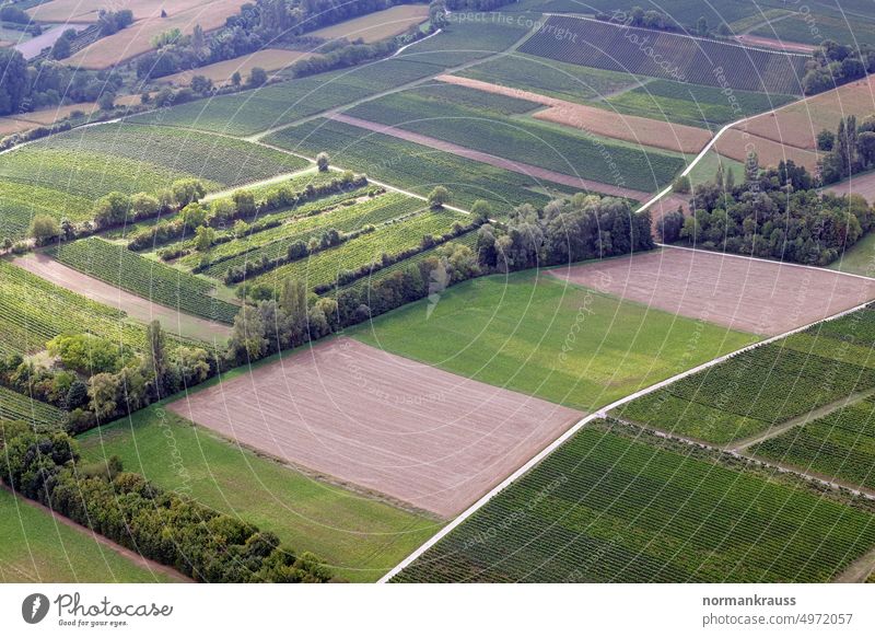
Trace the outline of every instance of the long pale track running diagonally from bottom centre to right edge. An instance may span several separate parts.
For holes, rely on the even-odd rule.
[[[745,257],[742,257],[742,258],[745,258]],[[483,506],[486,506],[486,503],[489,502],[489,500],[491,500],[493,497],[495,497],[500,491],[502,491],[505,488],[508,488],[511,484],[513,484],[514,482],[516,482],[517,479],[523,477],[525,474],[527,474],[535,466],[540,464],[540,462],[544,459],[546,459],[553,451],[556,451],[559,447],[561,447],[569,439],[571,439],[584,426],[586,426],[587,424],[592,422],[593,420],[606,418],[609,410],[616,409],[617,407],[620,407],[620,406],[622,406],[622,405],[625,405],[627,403],[631,403],[632,401],[634,401],[637,398],[640,398],[641,396],[645,396],[648,394],[652,394],[653,392],[655,392],[657,390],[661,390],[661,389],[663,389],[663,387],[665,387],[665,386],[667,386],[669,384],[673,384],[673,383],[675,383],[675,382],[677,382],[679,380],[682,380],[682,379],[685,379],[687,377],[690,377],[692,374],[696,374],[696,373],[704,371],[704,370],[707,370],[709,368],[712,368],[712,367],[714,367],[716,364],[720,364],[720,363],[728,360],[730,358],[732,358],[734,356],[737,356],[739,354],[744,354],[746,351],[750,351],[750,350],[756,349],[758,347],[765,347],[766,345],[770,345],[772,343],[781,340],[782,338],[786,338],[788,336],[792,336],[793,334],[797,334],[800,332],[804,332],[805,329],[808,329],[809,327],[813,327],[814,325],[817,325],[819,323],[826,323],[828,321],[836,321],[837,319],[841,319],[842,316],[845,316],[848,314],[852,314],[853,312],[858,312],[858,311],[864,309],[866,305],[868,305],[868,302],[862,303],[862,304],[856,305],[855,308],[851,308],[849,310],[843,310],[843,311],[841,311],[841,312],[839,312],[837,314],[833,314],[831,316],[828,316],[827,319],[824,319],[822,321],[816,321],[814,323],[809,323],[807,325],[803,325],[801,327],[796,327],[794,329],[791,329],[790,332],[785,332],[783,334],[779,334],[777,336],[771,336],[771,337],[766,338],[763,340],[760,340],[758,343],[754,343],[752,345],[747,345],[747,346],[745,346],[745,347],[743,347],[740,349],[736,349],[735,351],[731,351],[730,354],[725,354],[723,356],[720,356],[718,358],[709,360],[708,362],[704,362],[704,363],[702,363],[700,366],[697,366],[697,367],[695,367],[692,369],[689,369],[687,371],[684,371],[684,372],[675,374],[675,375],[673,375],[670,378],[667,378],[664,381],[660,381],[658,383],[655,383],[653,385],[644,387],[643,390],[639,390],[638,392],[629,394],[628,396],[622,397],[622,398],[620,398],[618,401],[615,401],[614,403],[610,403],[609,405],[605,405],[600,409],[596,410],[594,414],[590,414],[588,416],[583,417],[581,420],[579,420],[578,422],[572,425],[571,428],[568,429],[568,431],[565,431],[562,436],[560,436],[559,438],[553,440],[549,445],[547,445],[545,449],[542,449],[537,455],[532,458],[523,466],[517,468],[514,473],[512,473],[504,480],[502,480],[497,487],[494,487],[492,490],[490,490],[488,494],[486,494],[482,498],[477,500],[474,505],[471,505],[468,509],[466,509],[462,514],[459,514],[457,518],[455,518],[453,521],[451,521],[446,526],[441,529],[433,537],[431,537],[422,546],[417,548],[411,555],[406,557],[398,566],[396,566],[389,572],[387,572],[385,576],[383,576],[383,578],[381,578],[377,583],[388,583],[388,581],[393,577],[395,577],[400,571],[402,571],[405,568],[410,566],[413,561],[419,559],[419,557],[421,557],[429,548],[431,548],[432,546],[438,544],[438,542],[443,540],[453,530],[455,530],[457,526],[459,526],[465,520],[470,518],[479,509],[481,509]],[[744,456],[744,458],[747,458],[747,456]],[[791,473],[797,473],[797,472],[791,472]],[[798,475],[803,475],[803,474],[798,474]]]

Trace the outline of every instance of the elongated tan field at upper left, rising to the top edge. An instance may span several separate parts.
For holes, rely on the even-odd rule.
[[[66,61],[73,67],[106,69],[148,53],[152,49],[152,39],[172,28],[178,28],[186,35],[191,34],[197,24],[203,31],[219,28],[224,25],[226,18],[237,13],[248,1],[201,0],[187,11],[168,11],[167,18],[138,20],[115,35],[98,39]]]

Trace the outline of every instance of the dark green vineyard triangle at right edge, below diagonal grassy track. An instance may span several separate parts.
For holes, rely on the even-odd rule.
[[[875,403],[863,398],[809,419],[747,451],[802,471],[875,490]]]

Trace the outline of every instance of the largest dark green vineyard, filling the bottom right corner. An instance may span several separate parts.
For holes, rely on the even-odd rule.
[[[393,581],[830,581],[875,519],[803,485],[596,420]]]

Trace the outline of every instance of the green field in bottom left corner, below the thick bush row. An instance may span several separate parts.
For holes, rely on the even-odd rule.
[[[166,582],[100,545],[85,532],[56,522],[24,498],[0,489],[0,582]]]

